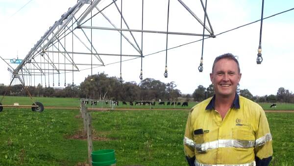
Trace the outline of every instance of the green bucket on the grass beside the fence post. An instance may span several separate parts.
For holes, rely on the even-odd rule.
[[[94,151],[92,155],[93,166],[115,166],[116,159],[113,149],[103,149]]]

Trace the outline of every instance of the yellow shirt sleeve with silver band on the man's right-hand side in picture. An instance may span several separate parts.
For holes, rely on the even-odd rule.
[[[261,162],[262,165],[257,166],[268,166],[272,156],[272,138],[270,134],[270,127],[265,111],[260,111],[260,118],[258,124],[258,130],[255,133],[255,158],[258,164],[258,161],[267,161]]]

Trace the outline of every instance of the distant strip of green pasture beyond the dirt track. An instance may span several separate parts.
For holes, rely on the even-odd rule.
[[[2,97],[2,96],[0,96]],[[45,107],[79,107],[80,99],[78,98],[56,98],[56,97],[33,97],[35,101],[43,103]],[[19,97],[19,96],[5,96],[2,104],[3,105],[12,105],[13,103],[19,103],[20,105],[32,105],[32,101],[29,97]],[[159,106],[156,102],[155,106],[130,106],[129,102],[126,102],[127,105],[123,105],[122,101],[119,101],[119,106],[115,108],[136,108],[136,109],[191,109],[197,104],[197,102],[188,102],[189,106]],[[181,102],[182,104],[183,102]],[[294,110],[293,103],[276,103],[276,108],[270,108],[271,103],[259,103],[264,110]],[[110,105],[106,105],[104,102],[98,102],[97,105],[91,106],[91,103],[87,105],[88,108],[110,108]]]

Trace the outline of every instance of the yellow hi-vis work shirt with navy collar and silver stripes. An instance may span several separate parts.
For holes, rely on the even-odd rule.
[[[272,139],[263,109],[236,93],[232,107],[222,119],[214,103],[215,96],[197,104],[189,113],[184,136],[189,165],[268,166]]]

